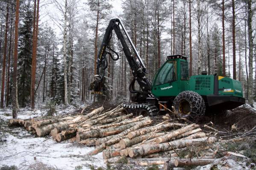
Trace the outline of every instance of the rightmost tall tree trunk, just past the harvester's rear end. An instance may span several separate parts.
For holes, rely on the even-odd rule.
[[[248,0],[248,40],[249,40],[249,77],[248,77],[248,102],[253,107],[253,37],[252,37],[252,0]]]

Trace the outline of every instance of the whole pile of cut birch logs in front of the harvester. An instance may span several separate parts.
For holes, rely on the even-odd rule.
[[[85,115],[82,113],[83,110],[75,116],[10,119],[9,123],[22,125],[39,137],[50,135],[56,142],[68,139],[69,142],[96,146],[87,154],[103,152],[106,163],[125,159],[129,164],[141,166],[165,164],[168,169],[204,165],[215,160],[216,153],[211,146],[218,139],[202,132],[199,125],[169,120],[156,124],[150,117],[124,112],[121,106],[109,111],[100,107]],[[196,155],[191,155],[192,149]],[[200,154],[202,150],[204,155]],[[194,156],[197,159],[191,159]]]

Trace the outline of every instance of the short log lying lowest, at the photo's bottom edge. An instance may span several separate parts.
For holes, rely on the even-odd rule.
[[[215,159],[175,159],[174,162],[166,162],[164,170],[171,170],[173,167],[204,166],[211,164],[213,161],[215,161]]]

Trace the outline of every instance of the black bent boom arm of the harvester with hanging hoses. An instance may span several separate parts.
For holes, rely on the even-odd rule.
[[[120,26],[122,27],[125,36],[127,37],[130,45],[132,46],[133,54],[135,55],[135,57],[132,55],[129,49],[129,46],[127,45],[124,39],[124,35],[121,32]],[[133,98],[132,100],[134,102],[144,102],[143,100],[145,100],[147,97],[153,97],[153,95],[151,94],[151,82],[146,77],[146,74],[147,74],[146,67],[142,62],[141,57],[138,54],[138,51],[136,50],[135,46],[132,43],[132,40],[127,34],[127,31],[124,28],[124,25],[119,19],[110,20],[109,26],[106,28],[103,42],[101,44],[100,51],[97,57],[97,75],[100,74],[100,71],[99,71],[100,68],[106,69],[108,66],[107,59],[106,59],[107,54],[109,54],[113,60],[118,60],[119,58],[118,54],[115,51],[113,51],[111,48],[109,48],[109,41],[112,37],[112,30],[115,31],[115,34],[117,35],[118,40],[121,42],[124,54],[127,58],[127,61],[129,62],[130,68],[132,69],[133,79],[131,81],[131,84],[129,85],[129,91],[133,94],[136,94],[136,97]],[[117,57],[114,58],[111,53],[106,51],[106,48],[109,48],[111,51],[113,51],[117,55]],[[140,91],[134,89],[135,81],[138,82],[141,88]]]

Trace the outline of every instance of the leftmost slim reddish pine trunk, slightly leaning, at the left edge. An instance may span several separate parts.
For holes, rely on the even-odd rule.
[[[2,70],[2,88],[1,88],[1,108],[3,108],[4,102],[4,86],[5,86],[5,71],[6,71],[6,54],[7,54],[7,35],[8,35],[8,18],[9,18],[9,3],[6,6],[6,25],[5,25],[5,37],[4,37],[4,49],[3,49],[3,70]]]

